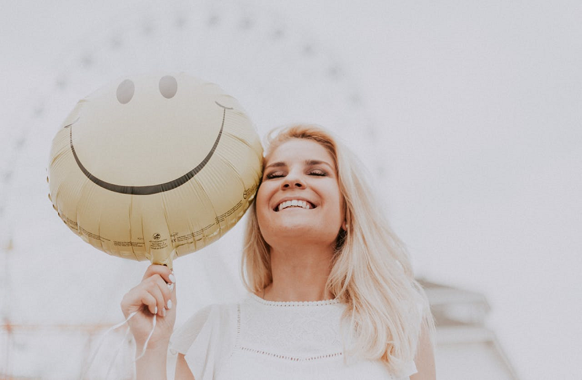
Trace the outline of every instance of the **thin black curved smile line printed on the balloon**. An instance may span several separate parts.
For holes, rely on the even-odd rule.
[[[226,112],[227,112],[227,110],[232,110],[231,107],[225,107],[224,105],[218,103],[218,101],[214,101],[214,103],[216,103],[216,105],[218,105],[218,107],[223,108],[223,122],[220,125],[220,131],[218,131],[218,136],[216,136],[216,140],[214,140],[214,145],[212,146],[212,149],[210,149],[210,151],[208,152],[206,157],[204,157],[204,159],[200,162],[200,164],[198,164],[195,168],[190,170],[185,175],[182,175],[181,177],[173,179],[172,181],[168,181],[166,183],[160,183],[157,185],[123,186],[123,185],[116,185],[115,183],[109,183],[109,182],[103,181],[103,179],[99,179],[99,178],[95,177],[94,175],[92,175],[92,173],[90,173],[89,170],[87,170],[87,168],[85,168],[85,166],[83,164],[81,164],[81,160],[79,160],[79,157],[77,156],[77,152],[75,152],[75,147],[73,146],[73,125],[75,123],[77,123],[77,121],[79,121],[79,118],[77,118],[77,120],[73,121],[73,123],[66,125],[64,128],[69,128],[69,139],[71,142],[71,151],[73,151],[73,157],[75,157],[75,161],[77,162],[77,166],[79,166],[79,169],[81,169],[81,172],[83,172],[83,174],[86,175],[86,177],[88,179],[90,179],[93,183],[95,183],[97,186],[101,186],[101,188],[110,190],[112,192],[119,192],[121,194],[151,195],[151,194],[157,194],[159,192],[173,190],[179,186],[184,185],[184,183],[190,181],[190,179],[192,179],[194,177],[194,175],[197,175],[199,173],[199,171],[202,170],[204,168],[204,166],[206,166],[206,164],[210,161],[210,158],[212,157],[212,155],[214,155],[214,151],[216,151],[216,147],[218,147],[218,142],[220,141],[220,137],[223,136],[223,129],[225,127]]]

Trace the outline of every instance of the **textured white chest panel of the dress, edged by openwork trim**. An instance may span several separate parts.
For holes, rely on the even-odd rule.
[[[295,362],[340,356],[344,309],[338,300],[276,302],[251,294],[237,305],[237,346]]]

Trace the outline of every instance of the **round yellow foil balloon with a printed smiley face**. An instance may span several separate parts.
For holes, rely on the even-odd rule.
[[[66,118],[51,148],[49,198],[98,249],[171,267],[240,220],[261,170],[249,117],[216,84],[130,77]]]

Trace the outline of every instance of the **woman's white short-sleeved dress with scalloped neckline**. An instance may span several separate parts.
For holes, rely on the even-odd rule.
[[[183,353],[196,380],[409,379],[381,362],[346,363],[339,301],[275,302],[249,294],[241,303],[211,305],[174,331],[170,351]]]

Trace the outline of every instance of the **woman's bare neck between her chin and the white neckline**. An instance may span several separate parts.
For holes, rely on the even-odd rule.
[[[271,247],[273,283],[265,288],[268,301],[321,301],[333,296],[325,283],[331,272],[333,246],[286,244]]]

